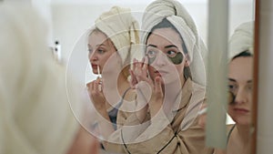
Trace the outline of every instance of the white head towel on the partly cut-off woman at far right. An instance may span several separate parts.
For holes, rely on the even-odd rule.
[[[228,61],[244,51],[248,51],[248,53],[253,55],[253,40],[254,22],[240,24],[229,40]]]

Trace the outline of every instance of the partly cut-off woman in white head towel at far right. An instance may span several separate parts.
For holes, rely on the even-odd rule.
[[[227,136],[227,154],[249,154],[253,88],[253,22],[241,24],[230,39],[228,88],[234,99],[228,115],[236,122]]]

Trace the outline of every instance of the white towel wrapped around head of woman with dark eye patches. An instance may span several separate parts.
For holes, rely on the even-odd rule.
[[[184,39],[190,60],[190,70],[193,80],[206,85],[204,59],[207,48],[198,35],[197,26],[186,8],[176,0],[157,0],[147,6],[142,19],[141,41],[146,44],[149,31],[163,18],[172,23]]]

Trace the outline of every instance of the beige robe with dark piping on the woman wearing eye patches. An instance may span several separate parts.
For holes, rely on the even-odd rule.
[[[198,118],[194,118],[194,122],[190,126],[185,125],[187,129],[181,127],[182,121],[187,117],[187,108],[189,104],[201,104],[204,101],[205,88],[193,83],[187,79],[183,89],[181,102],[177,109],[175,118],[166,125],[168,119],[164,114],[159,114],[157,120],[149,123],[150,117],[147,118],[147,123],[140,124],[136,118],[136,114],[126,116],[124,127],[121,127],[112,134],[111,139],[119,144],[108,144],[106,149],[120,153],[136,153],[136,154],[151,154],[160,153],[167,154],[210,154],[212,149],[207,149],[205,146],[205,131],[197,124]],[[122,115],[119,115],[122,116]],[[133,126],[133,127],[128,127]],[[164,128],[162,128],[164,127]],[[123,144],[123,140],[126,143]],[[165,147],[166,146],[166,147]]]

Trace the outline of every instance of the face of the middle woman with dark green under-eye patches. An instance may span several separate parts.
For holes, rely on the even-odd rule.
[[[149,75],[162,77],[165,84],[184,77],[186,65],[182,40],[172,28],[158,28],[147,38]]]

